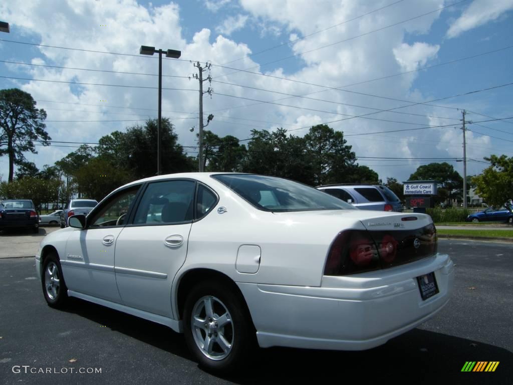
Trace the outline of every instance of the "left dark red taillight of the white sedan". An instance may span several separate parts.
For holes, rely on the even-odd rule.
[[[346,275],[381,267],[378,248],[366,230],[346,230],[331,244],[324,275]]]

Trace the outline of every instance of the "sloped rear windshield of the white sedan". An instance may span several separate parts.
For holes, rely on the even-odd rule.
[[[354,210],[323,191],[287,179],[261,175],[212,175],[253,206],[264,211]]]

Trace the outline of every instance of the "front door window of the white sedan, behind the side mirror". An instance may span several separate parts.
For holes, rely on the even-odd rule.
[[[91,218],[90,228],[105,226],[124,226],[127,223],[128,209],[141,186],[134,186],[110,199],[100,211]]]

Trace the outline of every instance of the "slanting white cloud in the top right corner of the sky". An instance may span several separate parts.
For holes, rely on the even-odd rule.
[[[451,24],[447,37],[456,37],[472,28],[496,20],[504,12],[513,9],[513,0],[474,0],[462,15]]]

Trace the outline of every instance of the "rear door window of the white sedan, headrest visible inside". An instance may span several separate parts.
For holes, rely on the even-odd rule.
[[[135,213],[134,224],[172,224],[192,221],[193,181],[153,182],[148,185]]]

